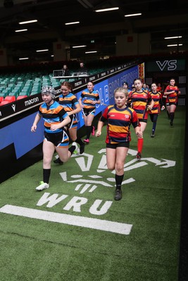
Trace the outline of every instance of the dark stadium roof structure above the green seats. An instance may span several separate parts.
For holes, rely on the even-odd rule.
[[[118,7],[114,11],[96,10]],[[127,14],[142,13],[134,17]],[[37,20],[30,24],[19,22]],[[65,25],[67,22],[79,22]],[[15,30],[25,32],[15,32]],[[188,50],[187,0],[1,0],[0,48],[7,48],[15,58],[33,56],[34,51],[48,49],[53,53],[53,42],[66,41],[71,46],[86,46],[100,55],[113,55],[115,37],[120,34],[149,32],[153,52],[169,50],[164,37],[171,44],[183,42]],[[78,51],[77,51],[78,52]],[[81,48],[80,48],[81,52]],[[49,55],[48,54],[48,55]],[[36,55],[36,53],[35,53]]]

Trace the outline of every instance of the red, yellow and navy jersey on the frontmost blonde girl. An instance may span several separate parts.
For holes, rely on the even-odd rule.
[[[116,105],[108,105],[100,118],[107,122],[106,143],[125,143],[131,141],[130,124],[135,128],[139,126],[137,113],[130,107],[123,109]]]

